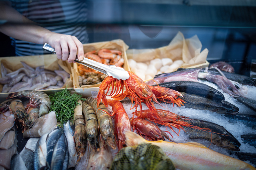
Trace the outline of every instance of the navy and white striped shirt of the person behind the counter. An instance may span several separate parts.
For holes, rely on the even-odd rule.
[[[52,32],[75,36],[88,43],[86,32],[87,5],[85,0],[11,0],[12,7],[28,19]],[[14,38],[16,56],[49,54],[42,44]]]

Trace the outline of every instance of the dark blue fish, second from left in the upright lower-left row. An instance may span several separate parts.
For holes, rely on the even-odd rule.
[[[49,137],[46,141],[46,148],[47,148],[46,162],[48,166],[51,166],[54,146],[57,143],[60,136],[62,135],[63,131],[64,131],[63,128],[55,129],[49,134]]]

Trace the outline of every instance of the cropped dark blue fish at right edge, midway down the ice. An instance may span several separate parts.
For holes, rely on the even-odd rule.
[[[230,114],[224,115],[228,117],[230,123],[242,122],[244,125],[256,129],[256,116],[255,115],[245,115],[245,114]]]

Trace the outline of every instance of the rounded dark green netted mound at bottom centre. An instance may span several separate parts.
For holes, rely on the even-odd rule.
[[[143,169],[175,170],[171,159],[164,154],[163,150],[150,143],[140,143],[121,149],[114,157],[110,169],[130,170],[142,167]]]

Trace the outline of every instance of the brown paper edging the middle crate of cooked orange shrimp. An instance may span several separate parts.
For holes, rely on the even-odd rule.
[[[98,52],[100,49],[103,49],[103,48],[121,51],[122,52],[121,57],[124,58],[123,68],[124,70],[130,71],[130,67],[128,65],[128,60],[126,55],[126,50],[129,48],[129,46],[126,45],[123,40],[117,39],[112,41],[95,42],[95,43],[88,43],[83,45],[84,45],[84,53],[87,53],[89,51],[94,51],[94,50]],[[78,76],[80,75],[79,69],[78,69],[78,63],[74,63],[71,71],[73,76],[74,88],[81,88],[78,82]],[[82,88],[99,87],[99,86],[100,86],[100,83],[95,85],[82,85]]]

